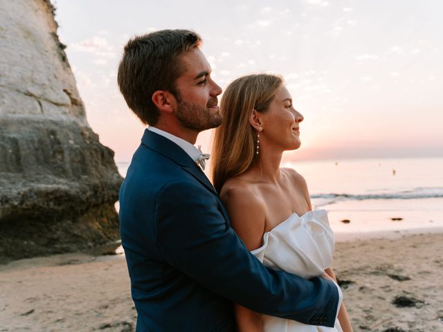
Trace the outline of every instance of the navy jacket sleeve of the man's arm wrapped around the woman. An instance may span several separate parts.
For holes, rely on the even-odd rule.
[[[334,282],[266,268],[244,246],[198,183],[165,185],[156,197],[155,232],[163,259],[199,284],[253,311],[334,326]],[[245,211],[247,213],[247,211]]]

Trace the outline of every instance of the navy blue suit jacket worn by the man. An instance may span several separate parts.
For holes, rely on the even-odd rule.
[[[305,324],[334,325],[336,286],[263,266],[230,228],[223,203],[196,163],[148,130],[120,189],[120,234],[136,331],[235,331],[232,302]]]

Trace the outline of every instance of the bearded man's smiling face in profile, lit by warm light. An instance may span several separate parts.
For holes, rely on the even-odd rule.
[[[195,131],[221,124],[217,95],[221,88],[210,77],[211,69],[199,48],[181,55],[185,72],[176,80],[177,110],[175,116],[183,127]]]

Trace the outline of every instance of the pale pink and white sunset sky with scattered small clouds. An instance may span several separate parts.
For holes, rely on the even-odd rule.
[[[305,116],[288,160],[443,156],[443,1],[53,0],[100,141],[129,161],[144,127],[116,83],[134,35],[188,28],[222,87],[281,74]],[[198,144],[210,148],[210,133]]]

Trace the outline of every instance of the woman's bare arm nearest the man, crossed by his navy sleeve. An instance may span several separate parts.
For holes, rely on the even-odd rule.
[[[226,183],[221,189],[221,201],[228,210],[230,223],[248,250],[262,246],[265,225],[264,205],[243,184]],[[234,304],[239,332],[263,332],[262,314]]]

